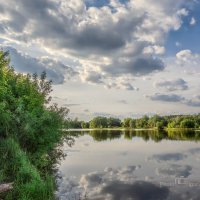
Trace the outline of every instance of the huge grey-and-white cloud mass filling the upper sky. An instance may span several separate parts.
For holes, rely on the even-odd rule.
[[[183,0],[112,0],[95,7],[83,0],[19,0],[16,6],[8,0],[0,5],[0,38],[99,61],[106,76],[142,76],[164,69],[163,61],[149,54],[164,53],[166,35],[178,30],[187,15],[183,4]],[[101,62],[102,56],[110,64]],[[84,80],[102,83],[94,73]]]

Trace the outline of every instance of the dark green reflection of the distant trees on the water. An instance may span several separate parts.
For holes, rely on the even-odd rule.
[[[125,139],[132,140],[134,137],[140,137],[144,141],[153,140],[160,142],[165,140],[188,140],[199,141],[200,132],[195,130],[88,130],[88,131],[66,131],[65,142],[72,146],[74,138],[90,135],[95,141],[114,140],[124,137]]]

